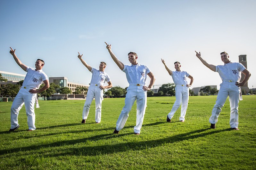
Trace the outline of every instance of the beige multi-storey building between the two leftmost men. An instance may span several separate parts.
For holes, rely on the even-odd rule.
[[[68,82],[68,78],[66,77],[50,77],[49,83],[54,83],[56,85],[59,85],[60,87],[68,87],[72,91],[72,93],[74,93],[76,91],[76,88],[78,87],[84,87],[87,89],[89,88],[89,85]]]

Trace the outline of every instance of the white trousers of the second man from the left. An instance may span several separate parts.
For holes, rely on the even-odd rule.
[[[87,97],[85,101],[85,105],[83,108],[83,119],[87,119],[91,103],[93,101],[93,98],[95,97],[95,122],[100,123],[101,122],[101,103],[103,100],[103,90],[101,90],[98,86],[90,85]]]

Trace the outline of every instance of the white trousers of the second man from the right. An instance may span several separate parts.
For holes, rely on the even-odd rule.
[[[181,104],[181,112],[180,112],[180,121],[185,120],[185,115],[187,111],[187,104],[188,104],[188,95],[189,95],[189,88],[185,86],[176,86],[175,87],[175,97],[176,101],[172,106],[170,113],[168,114],[169,119],[171,119],[174,113],[178,110]]]

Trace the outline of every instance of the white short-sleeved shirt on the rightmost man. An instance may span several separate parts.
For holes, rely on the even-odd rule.
[[[217,65],[216,72],[219,73],[221,80],[232,80],[239,82],[241,79],[241,72],[244,71],[245,67],[241,63],[225,63],[224,65]]]

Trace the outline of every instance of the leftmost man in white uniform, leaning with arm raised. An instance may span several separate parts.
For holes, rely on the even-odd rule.
[[[11,47],[10,47],[11,48]],[[13,56],[15,62],[27,72],[26,77],[23,81],[22,87],[15,97],[12,107],[11,107],[11,129],[9,131],[14,131],[20,127],[18,124],[18,115],[21,107],[25,104],[26,114],[28,116],[29,131],[35,130],[35,101],[37,98],[37,93],[43,92],[50,87],[48,77],[42,70],[45,62],[41,59],[37,59],[35,67],[27,67],[25,64],[21,63],[19,58],[15,54],[15,49],[11,48],[11,55]],[[44,83],[45,85],[41,88],[40,85]],[[38,90],[36,90],[38,89]]]

